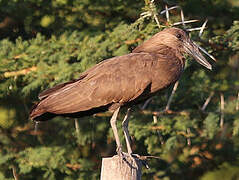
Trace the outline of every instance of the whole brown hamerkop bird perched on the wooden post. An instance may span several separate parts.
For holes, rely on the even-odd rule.
[[[110,122],[117,152],[122,153],[116,128],[119,109],[140,103],[175,83],[184,70],[185,54],[212,69],[183,30],[164,29],[132,53],[104,60],[83,72],[78,79],[43,91],[30,119],[42,121],[55,116],[83,117],[112,111]],[[129,141],[126,131],[124,128]],[[128,144],[128,152],[132,153]]]

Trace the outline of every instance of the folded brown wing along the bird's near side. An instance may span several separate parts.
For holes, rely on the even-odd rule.
[[[84,72],[84,77],[78,81],[43,93],[38,108],[65,114],[132,101],[151,84],[150,72],[155,61],[148,53],[131,53],[106,60]]]

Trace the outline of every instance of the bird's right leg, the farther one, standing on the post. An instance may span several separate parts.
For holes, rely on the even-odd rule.
[[[123,126],[123,131],[124,131],[124,136],[125,136],[125,141],[126,141],[128,154],[132,155],[132,149],[131,149],[131,146],[130,146],[130,136],[129,136],[129,130],[128,130],[129,116],[130,116],[130,108],[128,108],[128,110],[127,110],[127,113],[126,113],[126,115],[124,117],[124,120],[122,122],[122,126]]]

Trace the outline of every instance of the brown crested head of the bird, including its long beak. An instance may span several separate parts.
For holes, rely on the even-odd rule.
[[[212,69],[211,64],[204,58],[196,45],[185,31],[179,28],[167,28],[155,34],[152,38],[137,47],[133,52],[157,52],[163,46],[170,47],[181,55],[191,55],[199,64]]]

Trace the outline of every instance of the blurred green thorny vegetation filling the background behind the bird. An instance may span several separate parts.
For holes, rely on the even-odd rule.
[[[160,157],[142,178],[239,179],[237,0],[0,0],[0,179],[99,179],[101,158],[115,153],[109,113],[57,117],[38,131],[28,113],[40,91],[180,21],[179,10],[170,12],[171,22],[159,14],[165,5],[180,5],[187,20],[200,20],[191,27],[209,20],[201,38],[190,36],[217,63],[210,72],[187,61],[170,111],[162,113],[172,88],[144,110],[134,107],[133,151]],[[145,11],[151,15],[142,18]]]

